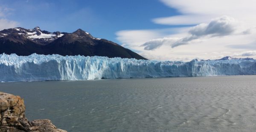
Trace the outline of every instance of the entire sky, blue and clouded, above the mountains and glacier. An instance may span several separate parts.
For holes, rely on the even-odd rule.
[[[0,0],[0,30],[83,29],[150,60],[256,58],[255,0]]]

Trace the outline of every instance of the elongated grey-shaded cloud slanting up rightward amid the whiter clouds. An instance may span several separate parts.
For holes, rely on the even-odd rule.
[[[200,41],[201,37],[217,37],[234,34],[236,30],[240,32],[238,28],[239,23],[232,17],[223,16],[213,19],[210,23],[201,23],[189,29],[189,36],[183,38],[169,37],[169,38],[157,38],[144,43],[145,50],[153,50],[159,48],[163,44],[172,46],[172,48]],[[242,29],[243,30],[243,29]],[[244,32],[242,33],[244,34]]]

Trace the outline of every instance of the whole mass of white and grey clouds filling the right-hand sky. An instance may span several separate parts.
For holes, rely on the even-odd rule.
[[[251,52],[256,50],[256,45],[252,44],[256,40],[256,14],[253,13],[256,11],[256,1],[160,1],[177,9],[180,14],[152,18],[152,22],[176,25],[176,28],[119,31],[116,33],[117,39],[149,59],[216,59],[231,55],[256,58],[256,54]],[[168,34],[163,30],[173,32]],[[140,34],[141,31],[143,34]],[[148,33],[150,35],[146,35]],[[250,50],[245,47],[250,47]],[[219,54],[216,55],[216,52]]]

